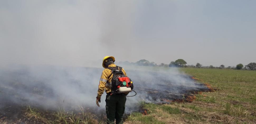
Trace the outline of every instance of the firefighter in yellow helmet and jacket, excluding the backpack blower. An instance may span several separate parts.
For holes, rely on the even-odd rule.
[[[106,114],[107,114],[107,124],[114,124],[116,119],[116,124],[123,123],[123,114],[125,111],[125,102],[126,102],[126,95],[127,93],[121,94],[111,94],[111,88],[106,86],[107,82],[112,81],[113,75],[111,75],[111,70],[107,69],[107,67],[116,67],[114,64],[115,58],[112,56],[105,56],[103,58],[102,66],[105,68],[102,72],[100,81],[99,81],[99,88],[98,88],[98,95],[96,97],[96,104],[99,106],[99,102],[101,102],[101,95],[103,94],[104,90],[106,90]],[[126,76],[126,72],[122,69],[122,72]],[[132,85],[133,88],[133,85]]]

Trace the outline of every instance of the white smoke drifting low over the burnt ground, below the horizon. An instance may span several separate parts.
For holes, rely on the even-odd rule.
[[[135,97],[127,97],[127,107],[138,101],[156,102],[146,91],[168,91],[181,95],[186,90],[202,88],[177,68],[124,66],[127,76],[134,82]],[[35,105],[58,109],[74,106],[96,107],[98,83],[102,68],[67,66],[12,66],[0,70],[1,104]],[[133,95],[130,93],[129,95]],[[104,93],[101,109],[105,106]],[[159,96],[160,98],[160,96]],[[159,98],[157,101],[159,101]],[[5,101],[5,102],[3,102]],[[129,111],[129,110],[127,110]]]

